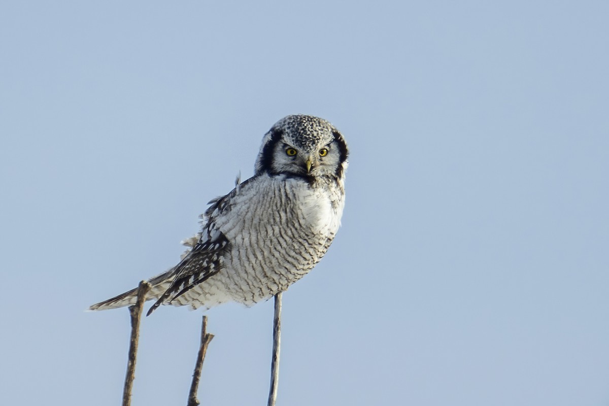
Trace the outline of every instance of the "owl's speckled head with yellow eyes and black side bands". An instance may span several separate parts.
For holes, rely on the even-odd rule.
[[[347,157],[345,139],[332,124],[296,114],[276,122],[264,135],[255,171],[305,178],[331,175],[340,180]]]

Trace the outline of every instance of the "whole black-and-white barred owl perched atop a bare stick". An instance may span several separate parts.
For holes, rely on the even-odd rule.
[[[199,307],[251,306],[283,292],[322,259],[345,204],[348,149],[328,121],[293,115],[264,135],[255,174],[209,203],[175,267],[149,280],[147,299]],[[135,303],[136,289],[91,310]]]

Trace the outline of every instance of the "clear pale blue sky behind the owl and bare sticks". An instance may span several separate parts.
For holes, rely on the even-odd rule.
[[[609,404],[609,2],[4,1],[0,404],[118,405],[126,309],[262,135],[350,146],[284,294],[278,405]],[[266,404],[272,301],[207,312],[205,405]],[[146,318],[133,405],[180,405],[202,312]]]

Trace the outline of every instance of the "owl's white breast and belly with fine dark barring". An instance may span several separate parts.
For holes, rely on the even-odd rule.
[[[239,303],[286,290],[322,259],[342,214],[342,194],[305,180],[260,175],[214,220],[227,237],[214,280]]]

